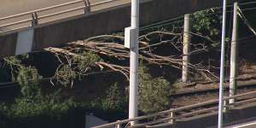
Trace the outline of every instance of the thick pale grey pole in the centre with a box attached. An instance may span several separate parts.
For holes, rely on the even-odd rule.
[[[129,119],[137,117],[138,87],[137,87],[137,68],[138,68],[138,29],[139,29],[139,0],[131,0],[131,28],[135,29],[135,47],[130,49],[130,96],[129,96]],[[136,125],[131,121],[131,125]]]

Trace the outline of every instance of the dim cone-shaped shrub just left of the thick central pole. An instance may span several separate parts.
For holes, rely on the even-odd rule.
[[[113,84],[107,91],[108,96],[102,100],[104,109],[122,109],[124,108],[126,98],[117,83]]]

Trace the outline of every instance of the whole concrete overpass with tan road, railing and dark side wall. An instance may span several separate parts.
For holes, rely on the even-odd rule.
[[[90,13],[84,13],[83,0],[78,3],[71,2],[72,4],[67,6],[42,9],[69,1],[24,0],[21,3],[4,0],[1,2],[3,7],[0,8],[0,16],[2,16],[0,17],[0,57],[19,55],[50,46],[57,47],[79,39],[122,31],[126,26],[130,26],[129,0],[108,0],[101,4],[97,3],[102,0],[91,0]],[[141,0],[140,25],[217,7],[221,2],[221,0]],[[17,16],[17,13],[23,15]],[[38,15],[38,25],[31,27],[31,15],[35,13]],[[15,14],[15,17],[8,16]]]

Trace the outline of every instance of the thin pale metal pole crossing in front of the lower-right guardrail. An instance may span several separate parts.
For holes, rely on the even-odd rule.
[[[219,74],[219,96],[218,96],[218,128],[223,127],[223,86],[224,86],[224,55],[226,37],[226,0],[223,1],[222,37],[221,37],[221,61]]]

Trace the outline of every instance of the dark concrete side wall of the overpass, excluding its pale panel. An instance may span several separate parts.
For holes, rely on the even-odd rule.
[[[167,20],[196,10],[217,7],[221,0],[144,0],[140,9],[140,24],[148,25],[160,20]],[[96,35],[123,31],[130,26],[130,4],[112,9],[104,9],[90,15],[58,20],[37,26],[34,30],[32,50],[49,46],[61,46],[68,42],[89,38]],[[0,57],[15,55],[17,34],[0,37]]]

